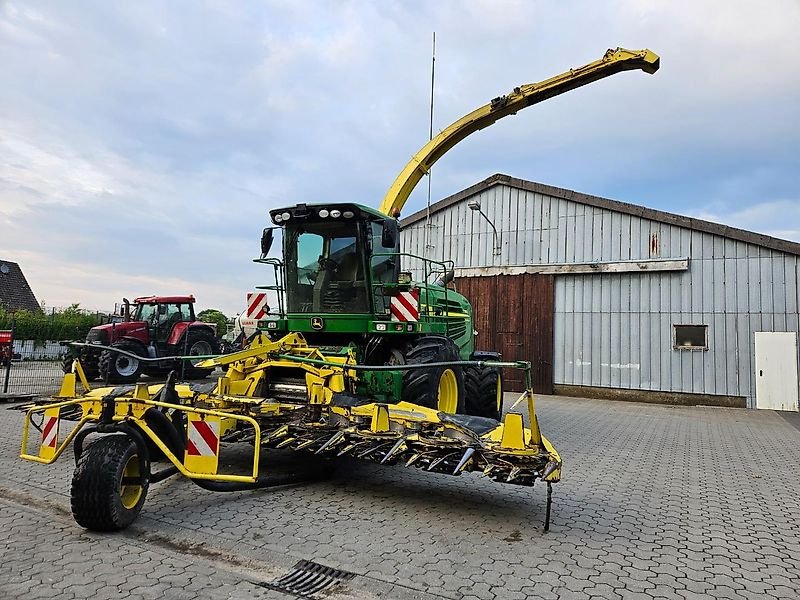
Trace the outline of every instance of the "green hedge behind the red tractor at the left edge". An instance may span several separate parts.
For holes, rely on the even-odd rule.
[[[42,311],[8,311],[0,307],[0,329],[13,329],[14,339],[35,340],[85,340],[95,325],[108,320],[102,313],[90,313],[73,304],[50,313]]]

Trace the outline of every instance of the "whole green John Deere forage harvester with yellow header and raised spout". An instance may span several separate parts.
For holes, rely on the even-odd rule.
[[[22,458],[49,464],[74,443],[72,511],[89,529],[126,527],[150,484],[177,473],[213,491],[286,483],[260,466],[274,449],[303,453],[309,464],[352,457],[522,486],[541,480],[547,529],[561,458],[539,429],[530,363],[475,350],[472,307],[452,289],[452,262],[402,253],[397,218],[422,174],[470,133],[620,71],[653,73],[658,63],[649,50],[609,50],[492,100],[426,144],[378,210],[320,203],[270,211],[256,262],[271,267],[274,284],[263,289],[278,306],[243,350],[195,365],[221,367],[223,377],[189,386],[172,374],[165,384],[90,389],[76,360],[53,402],[28,409]],[[280,258],[270,257],[276,230]],[[421,281],[401,263],[417,265]],[[527,389],[503,415],[507,368],[525,370]],[[31,427],[41,433],[36,451]],[[251,464],[221,468],[221,453],[241,444],[252,448]],[[154,472],[156,459],[169,464]]]

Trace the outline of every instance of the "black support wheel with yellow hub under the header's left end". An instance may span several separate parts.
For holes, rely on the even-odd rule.
[[[72,516],[92,531],[118,531],[133,523],[142,510],[149,485],[140,473],[138,451],[126,435],[107,435],[84,449],[72,476]],[[142,479],[142,475],[144,476]],[[123,482],[139,477],[139,485]]]

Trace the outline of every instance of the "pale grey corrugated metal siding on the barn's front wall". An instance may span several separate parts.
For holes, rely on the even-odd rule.
[[[403,230],[404,251],[459,267],[690,258],[684,272],[556,277],[554,383],[746,396],[753,334],[797,331],[797,257],[719,235],[497,185],[477,194],[501,236],[459,202]],[[672,348],[708,325],[707,351]]]

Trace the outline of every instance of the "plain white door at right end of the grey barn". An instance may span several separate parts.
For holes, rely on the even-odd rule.
[[[797,411],[797,334],[755,336],[756,408]]]

